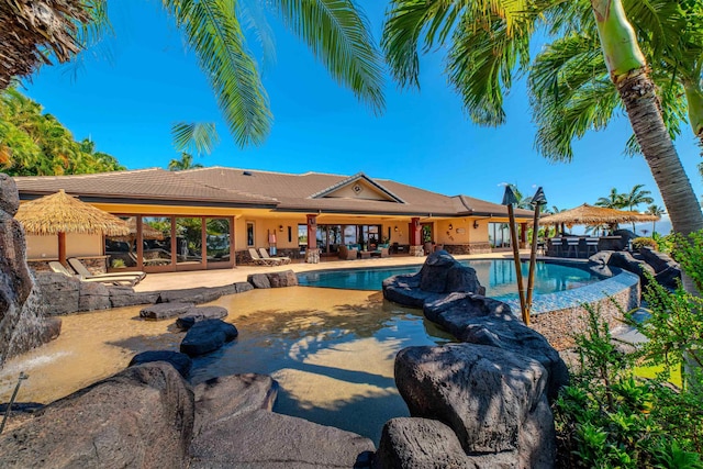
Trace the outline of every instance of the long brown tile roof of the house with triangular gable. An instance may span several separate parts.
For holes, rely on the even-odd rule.
[[[345,183],[359,178],[398,200],[367,200],[330,197]],[[183,171],[159,168],[80,176],[16,177],[23,199],[59,189],[87,201],[131,203],[200,204],[220,206],[266,206],[280,212],[326,212],[405,216],[506,216],[505,206],[467,196],[448,197],[387,179],[305,172],[301,175],[253,169],[209,167]],[[321,197],[322,196],[322,197]],[[532,212],[515,210],[521,217]]]

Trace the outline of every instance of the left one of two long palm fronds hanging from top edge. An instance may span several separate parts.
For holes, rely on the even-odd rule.
[[[246,47],[235,0],[164,0],[215,91],[239,146],[260,144],[269,132],[268,96]]]

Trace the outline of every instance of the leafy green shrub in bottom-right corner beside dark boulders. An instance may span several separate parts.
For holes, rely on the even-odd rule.
[[[618,351],[592,309],[577,351],[580,367],[555,402],[557,467],[703,468],[700,395],[635,377],[641,354]]]

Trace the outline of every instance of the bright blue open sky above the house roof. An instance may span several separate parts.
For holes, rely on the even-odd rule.
[[[283,172],[365,172],[440,192],[500,202],[504,182],[532,194],[543,186],[549,205],[593,203],[615,187],[636,183],[663,205],[641,157],[623,155],[632,131],[617,119],[604,132],[576,144],[571,164],[553,164],[533,148],[534,125],[524,81],[506,100],[507,124],[473,125],[460,99],[447,86],[439,53],[422,63],[422,89],[400,91],[387,80],[387,109],[375,116],[353,93],[330,78],[294,36],[272,20],[276,62],[264,82],[274,112],[264,145],[241,149],[227,134],[208,82],[159,2],[110,2],[115,37],[86,57],[77,74],[44,67],[25,83],[30,97],[56,115],[77,138],[90,136],[98,149],[130,169],[166,167],[179,157],[171,145],[176,121],[215,122],[221,144],[197,158],[223,165]],[[380,37],[384,2],[362,2]],[[75,67],[74,67],[75,68]],[[695,168],[699,148],[690,129],[677,148],[696,194],[703,192]],[[644,206],[641,208],[644,209]]]

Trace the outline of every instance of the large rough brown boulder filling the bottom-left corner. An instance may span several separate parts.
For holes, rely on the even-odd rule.
[[[193,394],[168,364],[131,367],[0,435],[0,467],[185,468]]]

